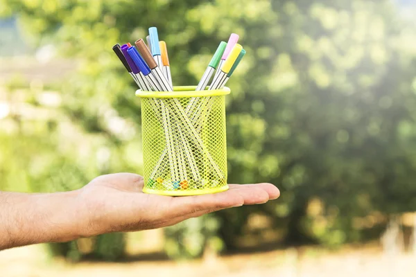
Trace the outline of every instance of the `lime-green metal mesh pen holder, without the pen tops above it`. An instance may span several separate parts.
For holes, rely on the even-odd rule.
[[[144,193],[227,190],[225,95],[229,89],[136,91],[141,98]]]

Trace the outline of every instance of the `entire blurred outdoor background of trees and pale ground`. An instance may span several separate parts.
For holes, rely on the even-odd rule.
[[[157,26],[175,85],[230,33],[229,182],[277,201],[162,230],[0,252],[1,276],[415,276],[416,1],[0,0],[0,190],[141,173],[112,52]]]

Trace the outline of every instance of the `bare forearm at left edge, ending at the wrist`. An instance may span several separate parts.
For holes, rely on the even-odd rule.
[[[83,215],[77,191],[50,194],[0,192],[0,250],[79,238]]]

